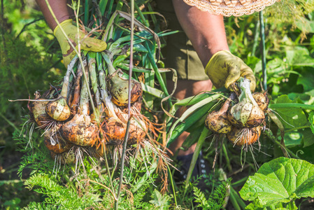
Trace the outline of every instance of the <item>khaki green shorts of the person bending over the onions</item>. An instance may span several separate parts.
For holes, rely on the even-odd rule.
[[[171,0],[156,0],[157,11],[166,18],[168,29],[180,32],[166,36],[166,47],[162,48],[162,61],[167,68],[176,69],[180,80],[208,80],[204,66],[194,50],[191,41],[185,35]],[[170,75],[167,75],[168,79]],[[171,75],[172,76],[172,75]]]

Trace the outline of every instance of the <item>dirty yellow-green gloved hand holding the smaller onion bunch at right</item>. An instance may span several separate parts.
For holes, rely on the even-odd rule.
[[[251,81],[250,90],[255,90],[256,80],[252,69],[227,50],[218,51],[210,58],[205,73],[217,88],[224,86],[230,90],[231,84],[245,76]]]

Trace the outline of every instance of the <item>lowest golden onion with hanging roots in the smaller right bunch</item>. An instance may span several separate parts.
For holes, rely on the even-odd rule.
[[[260,127],[233,127],[227,134],[227,138],[236,146],[247,146],[254,144],[261,136]]]

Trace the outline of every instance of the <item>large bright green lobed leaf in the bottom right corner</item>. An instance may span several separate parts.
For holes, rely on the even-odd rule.
[[[252,202],[250,209],[295,209],[294,200],[314,197],[314,165],[292,158],[271,160],[249,176],[239,193],[243,200]]]

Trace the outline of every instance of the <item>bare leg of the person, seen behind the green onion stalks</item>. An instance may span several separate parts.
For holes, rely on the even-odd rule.
[[[168,80],[167,85],[171,92],[173,90],[173,82]],[[212,87],[213,83],[211,83],[210,80],[178,80],[176,92],[173,94],[173,97],[176,97],[180,100],[185,99],[187,97],[197,95],[203,91],[210,91]],[[177,116],[181,116],[184,111],[185,109],[179,109]],[[173,143],[169,146],[169,149],[173,154],[175,154],[176,151],[178,151],[178,149],[182,146],[188,135],[188,132],[183,132],[183,134],[181,134],[178,139],[173,141]],[[188,148],[187,151],[179,150],[178,155],[190,155],[194,153],[195,147],[196,144]]]

